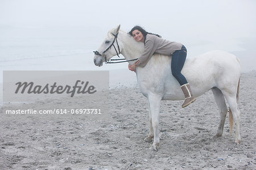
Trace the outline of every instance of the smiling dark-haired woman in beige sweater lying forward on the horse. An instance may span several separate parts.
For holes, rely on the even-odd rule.
[[[168,40],[162,39],[161,36],[157,34],[146,32],[140,26],[133,27],[129,34],[133,36],[137,42],[143,42],[145,47],[142,55],[138,58],[138,61],[136,61],[133,65],[129,64],[130,71],[135,72],[136,67],[144,67],[154,53],[172,56],[172,75],[179,82],[181,90],[185,96],[185,101],[182,107],[186,107],[190,103],[194,102],[196,98],[193,97],[186,78],[183,76],[183,74],[180,73],[187,57],[187,49],[185,46],[181,43],[170,42]]]

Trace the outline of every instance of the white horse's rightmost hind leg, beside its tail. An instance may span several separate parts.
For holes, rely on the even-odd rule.
[[[237,103],[237,96],[236,94],[230,94],[222,92],[226,98],[226,101],[229,103],[229,107],[232,110],[233,119],[236,125],[236,142],[241,143],[241,136],[240,136],[240,117],[241,112],[238,109],[238,103]]]

